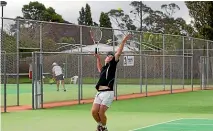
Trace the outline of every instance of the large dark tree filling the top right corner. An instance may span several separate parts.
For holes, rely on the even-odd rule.
[[[202,38],[213,40],[213,2],[187,1],[189,15],[194,19],[194,27]]]

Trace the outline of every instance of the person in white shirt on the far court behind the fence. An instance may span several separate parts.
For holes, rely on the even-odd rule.
[[[64,86],[64,75],[62,73],[62,68],[56,62],[54,62],[52,66],[53,66],[52,68],[53,78],[56,80],[56,83],[57,83],[57,91],[59,91],[60,81],[61,81],[61,84],[63,85],[64,91],[66,91]]]

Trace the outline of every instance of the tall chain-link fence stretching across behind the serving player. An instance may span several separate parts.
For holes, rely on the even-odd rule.
[[[56,88],[55,84],[50,84],[53,62],[57,62],[63,68],[66,87],[73,87],[70,94],[67,92],[68,95],[62,95],[63,97],[59,97],[61,94],[58,94],[59,96],[54,99],[49,97],[55,92],[45,93],[44,102],[87,99],[94,96],[94,85],[99,73],[96,59],[92,55],[96,45],[90,37],[91,27],[10,18],[4,18],[3,27],[1,48],[7,52],[7,84],[10,86],[8,89],[12,89],[11,94],[7,96],[8,105],[32,102],[32,80],[28,78],[28,72],[33,59],[32,52],[36,51],[45,52],[39,56],[44,85],[47,86],[44,86],[44,90],[54,92]],[[146,89],[149,92],[170,90],[171,83],[173,89],[192,86],[200,88],[203,66],[208,70],[203,78],[208,83],[208,88],[211,87],[212,41],[161,33],[109,28],[101,30],[103,37],[98,49],[102,59],[105,58],[106,51],[116,51],[125,34],[133,35],[132,39],[127,41],[118,64],[115,85],[118,96],[143,93]],[[205,58],[201,57],[207,57],[206,65],[202,64]],[[127,59],[134,60],[134,64],[127,66]],[[78,77],[78,81],[76,84],[70,84],[73,83],[74,76]],[[24,96],[22,92],[27,92],[28,95]],[[78,93],[75,94],[76,92]]]

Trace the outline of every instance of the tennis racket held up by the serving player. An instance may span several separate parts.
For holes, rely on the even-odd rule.
[[[98,53],[98,44],[102,38],[102,31],[99,27],[91,27],[90,29],[90,36],[94,42],[94,44],[96,44],[96,48],[95,48],[95,54]]]

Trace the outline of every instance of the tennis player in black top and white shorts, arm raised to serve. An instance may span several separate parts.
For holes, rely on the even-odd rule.
[[[105,112],[110,107],[114,99],[114,80],[117,63],[119,62],[119,57],[123,51],[124,44],[131,37],[131,35],[125,36],[121,42],[117,52],[108,52],[105,59],[105,65],[101,65],[100,56],[95,54],[97,58],[97,68],[100,72],[100,79],[96,85],[97,94],[94,99],[92,106],[92,116],[98,123],[97,131],[108,131],[106,127],[107,117]]]

